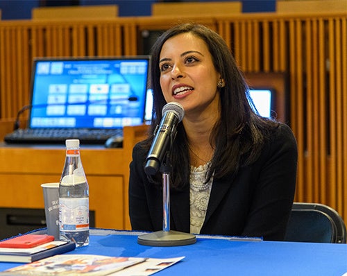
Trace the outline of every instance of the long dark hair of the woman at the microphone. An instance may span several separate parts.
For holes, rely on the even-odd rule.
[[[170,37],[181,33],[192,33],[207,44],[214,67],[225,82],[225,86],[219,90],[221,116],[210,137],[211,144],[215,144],[215,148],[208,175],[210,178],[214,173],[215,179],[225,178],[259,157],[262,145],[270,135],[270,130],[276,128],[278,123],[263,119],[253,112],[244,75],[237,67],[226,42],[217,33],[203,25],[187,23],[174,26],[163,33],[153,45],[151,53],[153,119],[151,134],[143,145],[146,149],[151,146],[155,127],[162,119],[162,107],[167,103],[160,87],[159,58],[162,45]],[[189,185],[190,160],[187,137],[182,123],[178,124],[177,130],[171,149],[173,171],[170,184],[171,187],[180,189]],[[158,175],[158,184],[161,183],[160,180]]]

